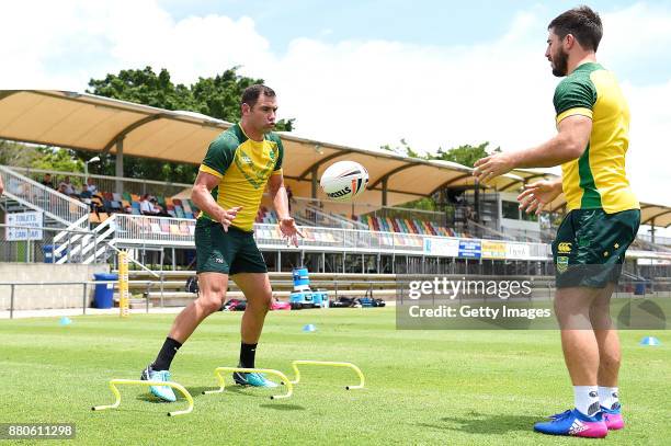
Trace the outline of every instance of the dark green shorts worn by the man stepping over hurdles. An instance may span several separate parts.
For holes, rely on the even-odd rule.
[[[195,228],[196,273],[268,273],[252,231],[198,218]]]

